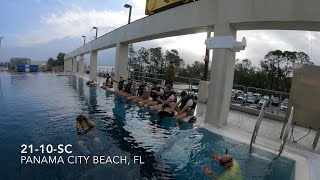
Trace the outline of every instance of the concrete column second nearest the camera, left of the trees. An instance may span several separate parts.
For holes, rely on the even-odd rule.
[[[124,79],[127,79],[128,77],[128,52],[129,52],[128,44],[122,44],[122,43],[117,44],[116,72],[115,72],[116,80],[119,80],[120,77],[123,77]]]

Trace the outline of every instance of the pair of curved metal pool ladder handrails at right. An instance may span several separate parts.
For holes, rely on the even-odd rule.
[[[251,141],[250,141],[250,149],[249,149],[250,151],[252,150],[252,144],[255,143],[255,141],[256,141],[256,138],[257,138],[257,135],[258,135],[258,131],[259,131],[259,128],[260,128],[260,125],[261,125],[261,122],[262,122],[262,119],[263,119],[263,116],[264,116],[264,112],[265,112],[265,109],[266,109],[266,105],[267,105],[267,101],[265,101],[263,103],[262,108],[261,108],[260,113],[259,113],[258,120],[257,120],[256,125],[254,127],[254,130],[253,130],[253,133],[252,133],[252,137],[251,137]],[[290,129],[292,127],[293,111],[294,111],[294,107],[292,106],[288,122],[287,122],[287,124],[285,126],[285,129],[283,131],[283,135],[281,137],[281,146],[280,146],[280,149],[279,149],[279,153],[275,158],[273,158],[274,160],[281,156],[282,151],[284,149],[284,146],[285,146],[285,144],[287,142],[287,139],[289,137]]]

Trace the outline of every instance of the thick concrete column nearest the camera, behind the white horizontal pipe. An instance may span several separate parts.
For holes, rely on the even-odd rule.
[[[236,39],[236,34],[230,24],[214,26],[214,36],[233,36]],[[235,52],[231,49],[214,49],[211,67],[205,123],[223,126],[227,124],[230,107]]]

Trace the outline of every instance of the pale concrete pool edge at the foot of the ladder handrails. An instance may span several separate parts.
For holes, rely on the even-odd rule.
[[[250,139],[251,139],[251,134],[243,132],[243,131],[239,131],[236,129],[232,129],[230,127],[215,127],[211,124],[207,124],[205,123],[203,128],[209,130],[210,132],[213,132],[215,134],[219,134],[221,136],[245,143],[245,144],[250,144]],[[279,148],[279,145],[276,146],[277,142],[275,141],[271,141],[269,139],[264,139],[261,137],[257,138],[257,142],[262,142],[263,144],[255,144],[254,146],[277,154],[277,151],[275,150],[276,148]],[[272,149],[271,149],[271,148]],[[304,151],[301,149],[291,149],[291,147],[285,148],[285,150],[282,153],[282,156],[287,157],[289,159],[292,159],[295,161],[295,178],[297,180],[300,179],[315,179],[313,177],[316,177],[317,175],[317,169],[316,168],[309,168],[310,163],[316,163],[317,166],[319,163],[319,161],[315,161],[313,158],[315,158],[315,156],[318,156],[314,153],[310,153],[308,151]],[[320,157],[317,157],[320,160]],[[310,162],[310,160],[312,160],[312,162]]]

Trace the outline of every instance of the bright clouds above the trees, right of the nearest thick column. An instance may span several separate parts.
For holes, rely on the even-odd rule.
[[[253,60],[254,65],[264,58],[269,51],[297,51],[307,53],[311,60],[320,64],[320,33],[310,31],[257,30],[239,31],[238,40],[247,38],[248,47],[237,53],[237,58]]]

